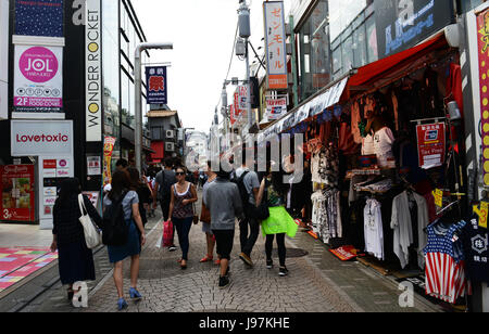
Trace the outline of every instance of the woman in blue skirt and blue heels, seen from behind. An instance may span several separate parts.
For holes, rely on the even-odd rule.
[[[114,264],[114,282],[117,288],[118,300],[117,307],[120,310],[127,308],[127,303],[124,298],[124,281],[123,281],[123,261],[130,257],[130,287],[129,296],[133,300],[141,299],[141,294],[137,291],[138,275],[139,275],[139,255],[141,246],[146,243],[145,228],[142,227],[141,216],[139,214],[139,197],[135,191],[130,189],[129,175],[125,170],[117,170],[112,176],[112,190],[103,198],[103,205],[106,208],[112,203],[117,202],[122,196],[124,218],[129,228],[129,236],[127,243],[123,246],[108,246],[109,260]],[[139,233],[138,233],[139,231]]]

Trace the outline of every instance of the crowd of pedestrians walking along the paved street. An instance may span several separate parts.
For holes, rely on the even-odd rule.
[[[233,159],[230,159],[233,163]],[[61,184],[59,197],[53,209],[53,242],[51,251],[59,253],[59,270],[63,285],[67,285],[67,296],[72,300],[76,282],[95,280],[92,249],[87,246],[86,231],[80,216],[89,215],[93,226],[102,231],[102,242],[108,246],[110,262],[114,266],[113,280],[117,291],[117,308],[128,307],[124,294],[123,261],[130,258],[131,300],[140,300],[137,290],[140,253],[146,244],[145,226],[148,218],[155,217],[154,209],[160,204],[163,221],[171,222],[173,231],[167,248],[177,249],[174,235],[178,237],[181,270],[187,269],[189,233],[192,224],[202,223],[205,235],[206,254],[200,262],[214,262],[220,266],[216,282],[220,288],[230,284],[231,252],[235,226],[238,220],[240,253],[239,258],[250,268],[254,266],[252,251],[260,234],[266,237],[266,268],[273,269],[273,242],[278,246],[278,274],[288,274],[286,267],[285,236],[297,232],[297,224],[285,208],[287,185],[284,171],[267,171],[259,175],[247,164],[226,172],[224,166],[213,170],[208,162],[205,170],[191,174],[174,159],[164,160],[164,169],[150,168],[141,175],[127,160],[120,159],[111,182],[103,189],[102,216],[86,195],[82,194],[76,178]],[[197,192],[202,189],[201,211],[196,211]],[[166,226],[166,224],[165,224]],[[296,228],[294,228],[296,227]],[[172,228],[170,228],[172,230]],[[215,257],[214,257],[215,252]]]

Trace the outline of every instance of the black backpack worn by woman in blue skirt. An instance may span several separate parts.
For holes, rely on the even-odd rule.
[[[124,218],[122,202],[127,192],[105,207],[103,213],[102,242],[106,246],[123,246],[129,239],[129,227]]]

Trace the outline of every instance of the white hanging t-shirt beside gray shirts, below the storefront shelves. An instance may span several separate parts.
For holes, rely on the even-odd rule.
[[[367,200],[364,209],[365,252],[384,260],[384,229],[381,205],[376,200]]]

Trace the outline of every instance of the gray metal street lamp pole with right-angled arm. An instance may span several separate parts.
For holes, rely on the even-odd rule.
[[[142,171],[142,75],[141,75],[141,53],[145,50],[160,49],[160,50],[173,50],[173,43],[140,43],[136,47],[134,54],[134,92],[135,92],[135,156],[136,168]]]

